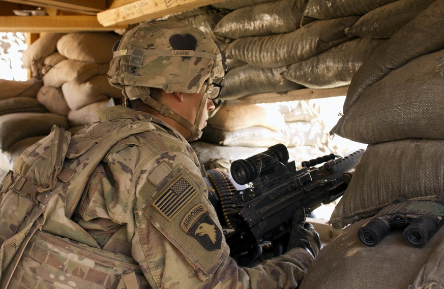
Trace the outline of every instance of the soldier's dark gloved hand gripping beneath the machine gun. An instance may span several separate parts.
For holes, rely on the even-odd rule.
[[[320,250],[319,234],[314,230],[312,224],[305,222],[305,210],[303,207],[299,207],[294,211],[291,220],[291,232],[287,251],[295,247],[306,249],[314,258],[316,258]]]

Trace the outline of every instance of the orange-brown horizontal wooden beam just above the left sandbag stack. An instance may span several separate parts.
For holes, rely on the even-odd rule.
[[[94,15],[87,16],[0,16],[0,31],[28,33],[70,33],[74,31],[110,31],[126,25],[103,27]]]

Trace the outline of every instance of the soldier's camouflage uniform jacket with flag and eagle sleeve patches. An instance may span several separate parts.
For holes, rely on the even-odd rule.
[[[119,110],[119,113],[116,113]],[[134,117],[115,107],[101,119]],[[153,288],[294,288],[313,257],[293,249],[254,268],[229,257],[196,154],[182,136],[157,129],[115,146],[91,177],[78,223],[103,249],[132,255]]]

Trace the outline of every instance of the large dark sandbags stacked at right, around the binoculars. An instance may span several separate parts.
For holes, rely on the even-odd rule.
[[[374,247],[360,243],[358,230],[396,199],[444,197],[443,12],[444,1],[433,1],[353,76],[331,133],[368,146],[329,221],[346,228],[320,251],[301,288],[442,288],[442,228],[422,248],[405,241],[401,224]]]

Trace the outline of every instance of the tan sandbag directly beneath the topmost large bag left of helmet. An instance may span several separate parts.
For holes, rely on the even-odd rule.
[[[43,76],[43,83],[47,86],[62,87],[65,82],[79,83],[90,79],[99,73],[97,63],[65,59],[58,62]]]

